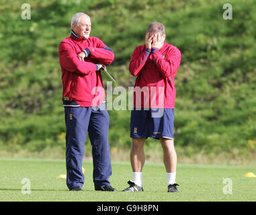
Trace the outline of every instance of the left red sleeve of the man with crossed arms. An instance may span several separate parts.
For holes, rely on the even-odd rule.
[[[75,50],[73,50],[71,44],[67,42],[60,42],[58,46],[58,56],[60,67],[63,67],[71,73],[88,75],[97,70],[96,64],[79,60]]]

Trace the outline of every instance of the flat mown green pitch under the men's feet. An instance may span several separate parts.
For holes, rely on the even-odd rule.
[[[256,173],[255,166],[179,164],[177,183],[179,193],[167,193],[167,178],[162,163],[147,162],[143,171],[144,192],[123,193],[132,170],[128,162],[112,162],[110,181],[118,192],[93,190],[92,161],[84,161],[83,191],[68,191],[65,160],[0,159],[0,201],[70,201],[70,202],[174,202],[174,201],[255,201],[256,178],[243,177]],[[22,179],[30,179],[30,194],[22,193]],[[224,194],[224,178],[232,180],[232,194]]]

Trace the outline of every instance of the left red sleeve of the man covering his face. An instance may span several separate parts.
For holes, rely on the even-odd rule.
[[[129,64],[129,71],[131,75],[137,76],[140,73],[150,53],[151,50],[148,48],[144,49],[142,52],[140,48],[135,48],[134,52],[132,52]]]

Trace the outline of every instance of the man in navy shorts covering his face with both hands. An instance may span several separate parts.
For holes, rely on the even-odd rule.
[[[137,46],[130,58],[129,70],[136,76],[134,108],[130,118],[132,148],[130,161],[133,181],[123,191],[143,191],[144,142],[151,137],[160,140],[167,171],[168,192],[178,192],[176,183],[177,155],[174,148],[175,75],[181,52],[165,42],[165,26],[151,23],[146,30],[145,44]]]

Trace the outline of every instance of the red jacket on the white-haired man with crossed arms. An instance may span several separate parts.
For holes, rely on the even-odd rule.
[[[86,48],[89,50],[89,56],[85,61],[81,61],[77,58],[77,54]],[[62,101],[75,101],[81,107],[92,107],[93,99],[101,93],[97,105],[102,103],[105,91],[102,91],[101,72],[96,71],[96,64],[112,63],[114,53],[111,48],[99,38],[89,37],[83,40],[72,32],[69,38],[60,42],[58,55],[62,71]],[[95,87],[101,89],[97,91],[97,95],[93,95],[92,92]]]

